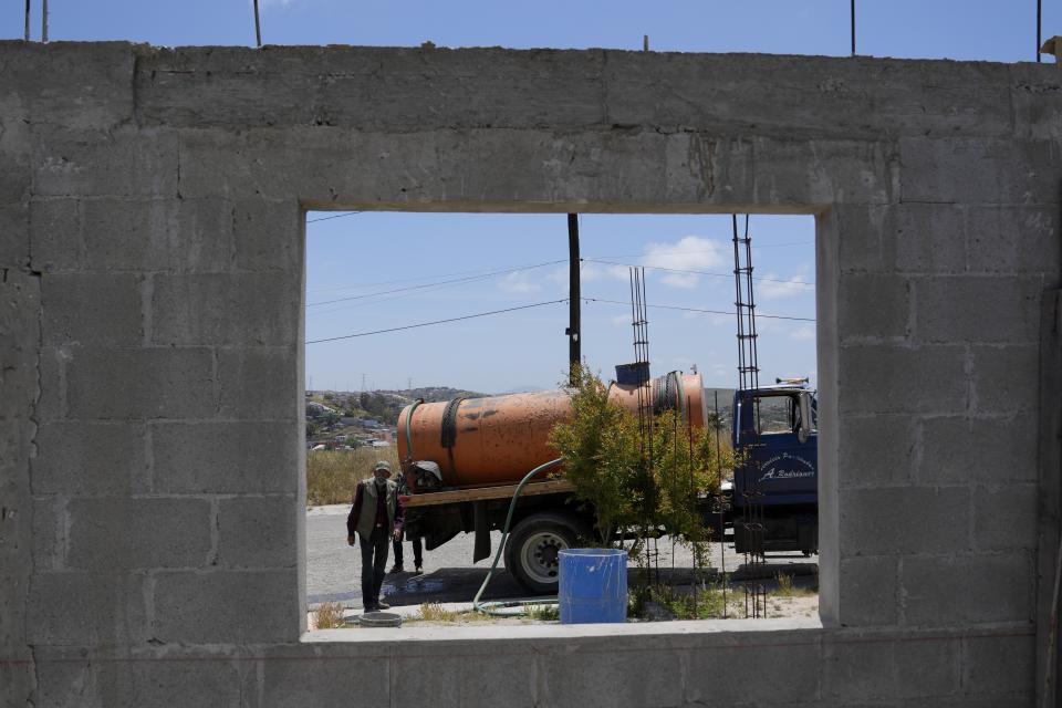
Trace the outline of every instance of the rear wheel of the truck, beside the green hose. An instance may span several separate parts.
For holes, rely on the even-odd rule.
[[[575,548],[580,538],[590,535],[577,518],[542,511],[527,517],[506,542],[506,568],[534,594],[556,593],[560,558],[558,552]]]

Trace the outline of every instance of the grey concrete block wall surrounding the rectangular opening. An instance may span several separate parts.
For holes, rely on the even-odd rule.
[[[14,42],[0,66],[3,705],[1032,705],[1054,66]],[[822,623],[304,635],[309,208],[814,214]]]

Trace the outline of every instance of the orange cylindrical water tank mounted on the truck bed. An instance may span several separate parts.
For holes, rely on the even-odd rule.
[[[638,386],[612,384],[608,395],[631,410],[638,409]],[[673,372],[650,379],[648,400],[656,410],[681,410],[695,428],[705,425],[700,374]],[[558,456],[549,445],[550,430],[570,417],[571,404],[563,391],[406,406],[398,416],[398,459],[404,468],[410,459],[438,464],[442,485],[450,489],[513,485]]]

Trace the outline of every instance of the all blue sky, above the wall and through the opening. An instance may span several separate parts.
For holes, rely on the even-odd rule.
[[[32,0],[40,37],[41,0]],[[51,0],[58,40],[158,45],[254,41],[251,0]],[[861,54],[1033,61],[1035,0],[860,0]],[[21,39],[23,3],[0,8],[0,38]],[[610,48],[656,51],[847,55],[848,0],[537,2],[261,0],[262,34],[275,44]],[[1062,32],[1062,0],[1044,0],[1043,35]],[[1048,60],[1050,61],[1050,60]],[[308,226],[308,340],[523,306],[566,296],[563,215],[358,214]],[[649,304],[732,308],[728,217],[607,216],[581,220],[583,295],[625,301],[626,264],[649,270]],[[761,314],[814,316],[811,217],[751,221]],[[455,281],[455,282],[447,282]],[[387,292],[393,291],[393,292]],[[381,294],[383,293],[383,294]],[[336,300],[339,302],[327,302]],[[323,304],[316,304],[323,303]],[[633,357],[629,308],[583,306],[583,353],[605,376]],[[317,388],[452,385],[485,392],[552,386],[563,375],[565,304],[373,336],[311,344]],[[766,378],[814,373],[813,323],[760,320]],[[708,385],[732,386],[735,317],[649,311],[654,373],[697,364]],[[309,381],[308,378],[308,381]]]

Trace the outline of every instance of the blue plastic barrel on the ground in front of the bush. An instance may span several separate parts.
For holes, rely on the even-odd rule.
[[[627,621],[627,552],[569,549],[560,552],[561,624]]]

